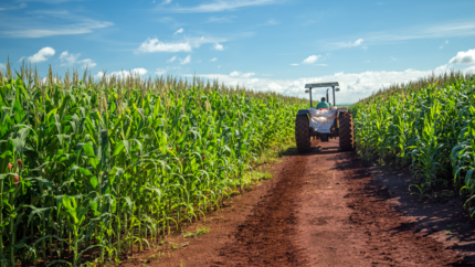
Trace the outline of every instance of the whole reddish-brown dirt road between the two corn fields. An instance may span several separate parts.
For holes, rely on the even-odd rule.
[[[147,266],[471,265],[466,252],[418,228],[394,206],[394,193],[381,186],[374,170],[351,152],[338,152],[338,140],[306,154],[291,152],[272,171],[274,179],[210,214],[208,234],[177,234],[139,254],[140,260]],[[203,223],[187,231],[197,227]],[[465,250],[473,252],[469,238]]]

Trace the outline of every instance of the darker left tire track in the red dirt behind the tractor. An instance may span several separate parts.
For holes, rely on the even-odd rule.
[[[246,221],[239,225],[234,241],[220,249],[225,266],[304,266],[297,235],[298,192],[308,157],[294,156],[274,178],[277,182],[262,196]]]

